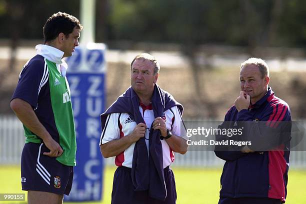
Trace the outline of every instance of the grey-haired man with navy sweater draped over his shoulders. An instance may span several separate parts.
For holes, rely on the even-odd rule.
[[[183,107],[157,84],[159,63],[141,53],[131,63],[131,86],[101,114],[100,149],[115,156],[111,203],[176,201],[174,152],[184,154]]]

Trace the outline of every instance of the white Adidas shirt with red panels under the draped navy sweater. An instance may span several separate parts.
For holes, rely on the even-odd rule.
[[[146,124],[145,144],[148,151],[149,146],[149,128],[154,121],[154,113],[152,105],[147,106],[140,103],[139,111]],[[177,106],[173,106],[163,112],[163,119],[166,119],[166,128],[170,129],[173,134],[180,136],[181,115]],[[100,144],[107,143],[115,139],[130,134],[136,126],[136,122],[129,116],[128,113],[111,113],[107,115],[105,127],[102,130]],[[174,152],[169,147],[165,139],[160,140],[162,146],[163,168],[167,167],[174,161]],[[117,166],[132,167],[133,152],[135,143],[132,143],[128,148],[115,157],[115,164]]]

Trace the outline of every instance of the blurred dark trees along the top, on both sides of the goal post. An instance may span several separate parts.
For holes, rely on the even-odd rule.
[[[79,0],[0,0],[1,38],[42,38],[52,13],[79,17]],[[96,39],[306,45],[304,0],[96,0]],[[85,28],[84,28],[85,29]]]

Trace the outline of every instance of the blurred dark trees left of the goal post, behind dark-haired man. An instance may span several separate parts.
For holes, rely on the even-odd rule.
[[[79,2],[75,0],[1,0],[0,37],[11,38],[18,32],[21,38],[42,39],[42,27],[46,19],[58,11],[79,17]]]

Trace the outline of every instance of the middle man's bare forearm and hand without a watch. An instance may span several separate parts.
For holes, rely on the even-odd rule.
[[[105,158],[118,155],[127,149],[132,143],[138,141],[141,137],[144,137],[145,128],[146,125],[144,123],[138,123],[129,135],[101,144],[100,150],[102,155]]]

